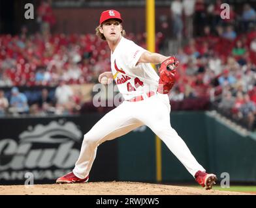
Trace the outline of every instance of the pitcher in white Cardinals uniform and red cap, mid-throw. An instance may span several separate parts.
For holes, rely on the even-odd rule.
[[[206,173],[170,125],[170,101],[167,94],[175,83],[178,60],[176,57],[150,53],[127,40],[122,22],[120,12],[106,10],[101,13],[96,34],[106,40],[111,50],[112,72],[99,75],[99,82],[108,85],[114,80],[125,100],[84,135],[74,169],[59,177],[56,183],[87,182],[100,144],[147,125],[202,187],[212,188],[217,180],[216,175]],[[150,63],[161,64],[159,75]]]

